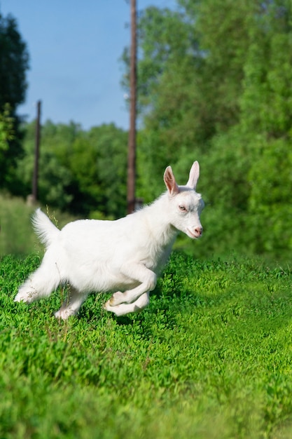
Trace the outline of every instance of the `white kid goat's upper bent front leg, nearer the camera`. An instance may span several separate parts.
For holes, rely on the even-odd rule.
[[[117,291],[113,293],[111,299],[109,299],[107,302],[109,306],[132,304],[132,302],[135,302],[141,295],[144,294],[144,292],[152,291],[156,286],[156,274],[149,270],[145,265],[137,263],[127,264],[124,265],[120,271],[133,281],[140,282],[140,285],[132,288],[132,290],[127,290],[125,292]]]

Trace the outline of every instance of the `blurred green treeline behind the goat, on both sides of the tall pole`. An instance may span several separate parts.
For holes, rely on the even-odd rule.
[[[292,250],[292,4],[178,0],[139,14],[137,196],[152,201],[171,164],[200,161],[207,207],[196,252],[285,257]],[[123,54],[128,83],[128,50]],[[6,182],[31,191],[34,124]],[[82,215],[126,210],[127,133],[46,122],[39,198]],[[183,241],[181,241],[183,245]]]

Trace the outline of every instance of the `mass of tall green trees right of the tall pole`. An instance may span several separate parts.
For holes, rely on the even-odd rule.
[[[291,2],[178,3],[179,12],[150,8],[140,20],[139,194],[158,195],[168,164],[183,183],[197,159],[207,201],[197,254],[288,257]],[[178,245],[192,251],[186,239]]]

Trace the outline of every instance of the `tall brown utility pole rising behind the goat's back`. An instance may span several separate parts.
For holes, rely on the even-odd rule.
[[[137,113],[137,12],[136,0],[131,0],[130,50],[130,130],[127,158],[127,213],[135,207],[136,182],[136,113]]]

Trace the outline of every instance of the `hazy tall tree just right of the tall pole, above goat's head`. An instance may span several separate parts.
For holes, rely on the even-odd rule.
[[[163,169],[181,155],[207,152],[239,121],[254,1],[180,1],[177,11],[147,8],[139,20],[138,170],[153,195]],[[140,194],[144,196],[144,189]],[[152,195],[152,194],[151,194]]]

